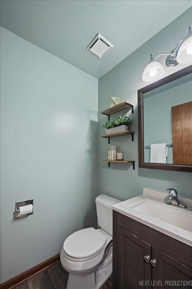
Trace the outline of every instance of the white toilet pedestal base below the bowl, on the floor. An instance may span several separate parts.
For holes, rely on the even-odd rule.
[[[99,289],[112,274],[112,247],[106,259],[95,272],[88,275],[69,273],[66,289]]]

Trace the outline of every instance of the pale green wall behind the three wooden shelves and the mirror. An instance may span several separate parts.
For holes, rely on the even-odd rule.
[[[110,144],[117,145],[119,150],[124,151],[124,159],[135,160],[135,170],[132,164],[101,163],[100,160],[107,157],[108,141],[98,138],[98,194],[126,200],[142,194],[143,187],[165,191],[167,188],[176,188],[178,194],[191,196],[192,175],[186,172],[173,172],[155,169],[138,168],[138,109],[137,90],[150,84],[143,82],[142,73],[149,63],[150,53],[154,56],[162,52],[169,52],[180,39],[187,35],[187,27],[191,23],[191,9],[181,14],[176,20],[166,26],[163,30],[149,39],[140,48],[120,62],[116,67],[99,79],[98,90],[98,134],[105,133],[101,127],[107,116],[100,112],[108,107],[109,96],[121,96],[122,101],[128,100],[134,104],[134,114],[127,110],[110,116],[110,120],[127,115],[133,120],[130,130],[135,132],[134,141],[130,136],[111,138]],[[125,36],[126,37],[126,36]],[[137,37],[137,36],[136,36]],[[159,57],[160,59],[160,57]],[[162,57],[164,63],[166,57]],[[161,61],[161,59],[160,59]],[[189,64],[188,64],[189,65]],[[186,65],[187,66],[187,65]],[[180,70],[184,65],[176,67],[165,67],[165,75]]]

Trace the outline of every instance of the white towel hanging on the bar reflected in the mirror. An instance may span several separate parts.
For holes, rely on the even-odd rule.
[[[168,148],[166,144],[151,144],[150,163],[166,163]]]

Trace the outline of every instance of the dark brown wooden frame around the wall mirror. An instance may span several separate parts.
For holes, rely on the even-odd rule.
[[[139,136],[139,168],[145,169],[163,169],[168,171],[192,172],[190,165],[176,165],[164,163],[145,163],[144,162],[144,127],[143,127],[143,94],[155,89],[161,85],[178,79],[192,72],[192,65],[183,68],[163,79],[149,84],[138,90],[138,136]]]

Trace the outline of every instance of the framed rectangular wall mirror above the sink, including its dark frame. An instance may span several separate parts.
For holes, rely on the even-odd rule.
[[[139,167],[192,172],[192,66],[138,90]]]

